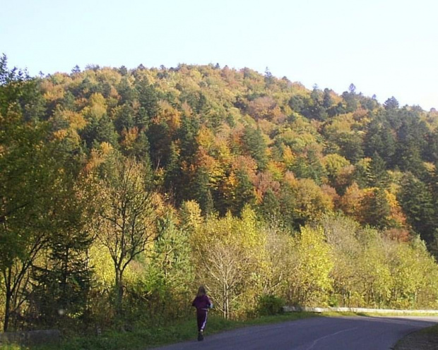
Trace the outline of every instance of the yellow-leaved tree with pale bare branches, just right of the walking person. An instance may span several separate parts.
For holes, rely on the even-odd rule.
[[[241,219],[230,213],[209,217],[191,235],[196,277],[206,285],[224,318],[239,318],[244,310],[254,308],[261,294],[264,246],[255,213],[247,207]]]

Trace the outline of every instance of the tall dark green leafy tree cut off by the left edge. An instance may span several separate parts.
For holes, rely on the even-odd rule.
[[[45,123],[25,117],[35,81],[9,71],[0,60],[0,270],[4,287],[4,331],[26,299],[32,264],[45,247],[50,227],[51,183],[57,164],[44,140]],[[30,97],[28,97],[28,93]],[[15,322],[14,322],[15,323]]]

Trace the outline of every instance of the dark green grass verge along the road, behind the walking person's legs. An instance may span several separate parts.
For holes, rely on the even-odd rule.
[[[299,320],[317,316],[315,313],[283,313],[279,315],[262,316],[244,321],[225,320],[218,315],[208,318],[206,335],[234,330],[252,325],[268,325],[271,323]],[[61,340],[58,344],[44,346],[20,346],[4,344],[0,350],[139,350],[150,347],[184,342],[196,338],[196,319],[174,322],[167,327],[148,327],[132,332],[102,332],[100,337],[71,337]]]

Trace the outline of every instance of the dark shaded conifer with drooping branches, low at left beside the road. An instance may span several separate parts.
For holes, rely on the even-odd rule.
[[[78,217],[81,215],[78,209],[69,207],[69,210],[61,212],[69,217],[64,218],[63,227],[59,227],[48,243],[47,265],[33,268],[35,282],[30,301],[39,321],[49,327],[66,317],[84,320],[88,308],[92,270],[87,253],[92,236]]]

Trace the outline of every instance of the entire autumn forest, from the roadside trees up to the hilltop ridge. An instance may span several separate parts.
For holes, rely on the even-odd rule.
[[[353,84],[185,64],[30,78],[3,56],[4,330],[157,325],[199,284],[225,318],[436,308],[437,126]]]

